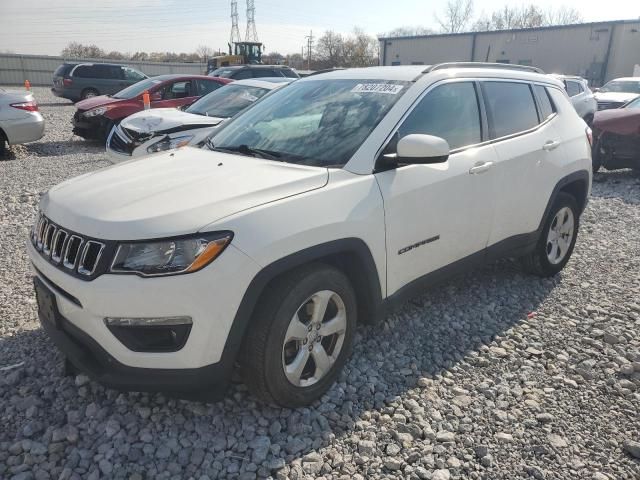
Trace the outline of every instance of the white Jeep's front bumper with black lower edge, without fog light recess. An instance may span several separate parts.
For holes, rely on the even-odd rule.
[[[62,324],[67,325],[64,331],[79,330],[83,339],[90,340],[81,344],[99,345],[106,356],[98,358],[113,359],[98,362],[99,365],[121,366],[111,372],[114,376],[121,376],[123,369],[129,368],[145,374],[149,370],[160,371],[160,376],[178,370],[191,376],[195,371],[223,368],[214,364],[228,365],[235,361],[224,355],[227,338],[244,291],[259,267],[233,245],[213,264],[196,273],[158,278],[103,274],[90,281],[55,267],[30,241],[27,251],[36,276],[55,294],[57,312],[63,318]],[[104,323],[106,317],[171,316],[188,316],[193,321],[186,344],[176,352],[132,351]],[[66,348],[61,346],[63,351]],[[101,376],[99,372],[88,373],[98,379]]]

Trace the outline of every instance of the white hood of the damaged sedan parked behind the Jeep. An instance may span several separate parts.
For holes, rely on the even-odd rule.
[[[183,112],[177,108],[155,108],[134,113],[121,122],[123,128],[138,133],[165,133],[192,128],[215,127],[224,118]]]

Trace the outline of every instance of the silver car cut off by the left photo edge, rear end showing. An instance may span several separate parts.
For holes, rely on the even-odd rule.
[[[6,145],[35,142],[44,135],[44,119],[33,94],[0,88],[0,158]]]

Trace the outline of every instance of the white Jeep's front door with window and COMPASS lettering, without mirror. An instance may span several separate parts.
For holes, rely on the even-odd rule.
[[[376,174],[384,199],[387,291],[446,267],[487,245],[496,187],[495,150],[483,141],[476,84],[432,88],[401,123],[395,138],[421,133],[444,138],[445,163],[400,166]],[[477,145],[477,146],[474,146]],[[389,149],[393,145],[389,145]]]

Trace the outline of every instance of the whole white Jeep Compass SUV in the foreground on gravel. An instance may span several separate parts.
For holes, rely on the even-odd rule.
[[[41,322],[105,385],[318,399],[358,323],[464,268],[557,274],[591,189],[563,85],[492,64],[299,80],[208,142],[51,188],[28,251]]]

